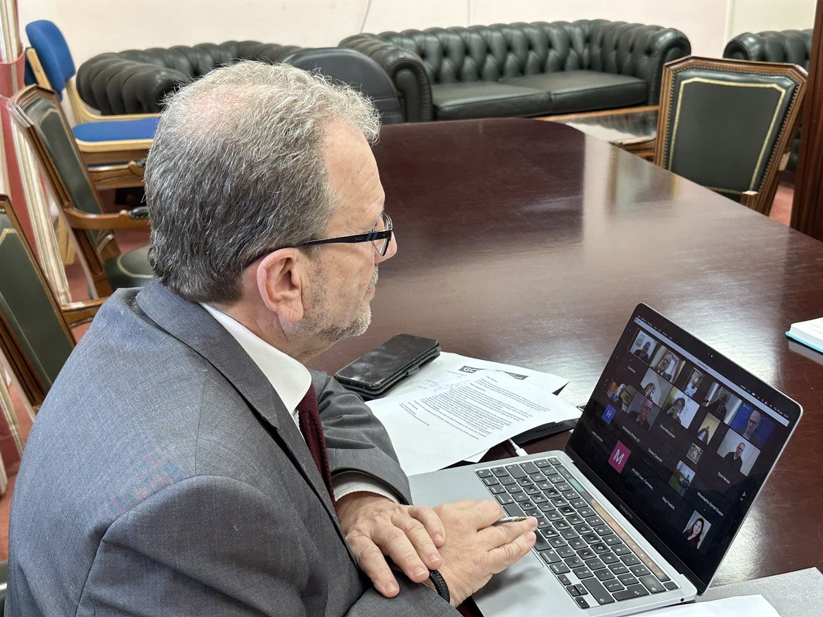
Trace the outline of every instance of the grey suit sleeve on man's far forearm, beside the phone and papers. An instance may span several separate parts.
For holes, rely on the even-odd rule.
[[[412,503],[406,474],[383,424],[356,394],[326,373],[312,371],[328,463],[337,471],[360,471],[392,488],[402,503]]]

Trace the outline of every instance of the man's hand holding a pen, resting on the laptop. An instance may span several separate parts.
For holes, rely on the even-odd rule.
[[[440,547],[443,565],[438,569],[449,585],[453,606],[483,587],[492,574],[502,572],[527,554],[537,540],[537,519],[533,517],[491,527],[505,516],[491,499],[444,503],[435,507],[435,513],[449,534]]]

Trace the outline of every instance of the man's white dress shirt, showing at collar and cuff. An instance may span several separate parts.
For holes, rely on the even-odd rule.
[[[254,364],[258,365],[258,368],[277,392],[277,396],[283,401],[283,405],[286,406],[286,411],[291,415],[291,419],[295,421],[297,429],[300,430],[297,406],[303,400],[311,385],[309,369],[306,369],[303,364],[300,364],[291,355],[286,355],[281,350],[263,341],[262,338],[255,335],[235,318],[229,317],[226,313],[222,313],[208,304],[201,303],[201,306],[222,327],[225,327],[231,336],[235,337],[235,340],[249,354]],[[360,471],[344,471],[335,474],[332,482],[334,484],[335,499],[341,499],[343,495],[365,490],[383,495],[394,503],[398,503],[397,497],[388,489],[388,486],[376,478],[360,473]]]

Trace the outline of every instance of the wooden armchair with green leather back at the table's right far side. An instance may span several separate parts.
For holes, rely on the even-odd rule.
[[[667,63],[654,163],[768,215],[805,90],[794,64]]]

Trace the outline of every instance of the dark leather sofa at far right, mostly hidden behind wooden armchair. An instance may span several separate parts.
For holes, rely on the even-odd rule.
[[[811,53],[811,30],[766,30],[737,35],[726,45],[723,58],[792,63],[808,71],[809,53]],[[798,128],[786,169],[797,168],[797,151],[799,150],[800,129]]]

